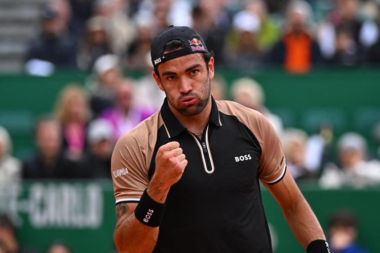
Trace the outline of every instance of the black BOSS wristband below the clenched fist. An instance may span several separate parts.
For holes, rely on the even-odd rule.
[[[159,227],[164,215],[165,203],[161,204],[151,199],[146,193],[142,194],[135,209],[135,217],[149,227]]]

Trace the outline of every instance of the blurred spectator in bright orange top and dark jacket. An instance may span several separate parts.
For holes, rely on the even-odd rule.
[[[290,72],[305,73],[321,61],[319,46],[308,27],[311,19],[312,9],[307,2],[289,2],[285,33],[270,52],[271,63],[283,64]]]

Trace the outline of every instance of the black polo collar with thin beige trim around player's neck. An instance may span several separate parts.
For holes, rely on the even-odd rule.
[[[161,116],[164,121],[164,126],[166,129],[166,132],[169,136],[175,137],[185,131],[186,129],[179,123],[178,119],[174,116],[173,112],[170,110],[168,105],[168,100],[165,98],[164,104],[161,107]],[[209,122],[214,123],[217,126],[221,126],[221,121],[219,117],[219,110],[218,106],[216,105],[216,102],[214,98],[211,96],[211,114]]]

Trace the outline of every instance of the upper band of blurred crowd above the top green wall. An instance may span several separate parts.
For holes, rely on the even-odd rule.
[[[224,66],[380,63],[378,0],[49,0],[25,68],[91,71],[108,54],[122,68],[149,68],[151,40],[171,24],[193,27]]]

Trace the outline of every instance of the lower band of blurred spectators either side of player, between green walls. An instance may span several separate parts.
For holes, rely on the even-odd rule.
[[[101,64],[100,64],[101,63]],[[0,183],[11,186],[22,179],[110,178],[110,159],[117,140],[139,122],[160,110],[165,98],[150,73],[140,79],[124,77],[115,55],[95,62],[96,74],[85,85],[68,83],[57,94],[53,108],[35,120],[35,152],[12,156],[12,140],[0,126]],[[230,87],[230,90],[227,90]],[[284,128],[282,118],[265,107],[265,94],[250,77],[227,86],[217,75],[211,81],[216,100],[232,99],[261,112],[273,125],[282,143],[289,171],[298,182],[318,182],[323,188],[380,185],[380,146],[368,152],[359,133],[339,136],[326,122],[308,136],[306,131]],[[380,118],[373,126],[380,144]]]

